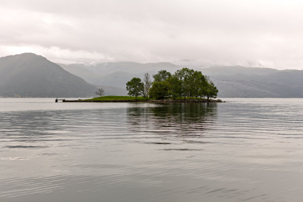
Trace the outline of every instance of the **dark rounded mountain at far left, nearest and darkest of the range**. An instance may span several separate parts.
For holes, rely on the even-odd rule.
[[[88,97],[96,87],[34,53],[0,58],[0,96]]]

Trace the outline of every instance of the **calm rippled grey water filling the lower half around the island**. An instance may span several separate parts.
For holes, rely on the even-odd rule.
[[[303,201],[303,99],[0,99],[0,202]]]

